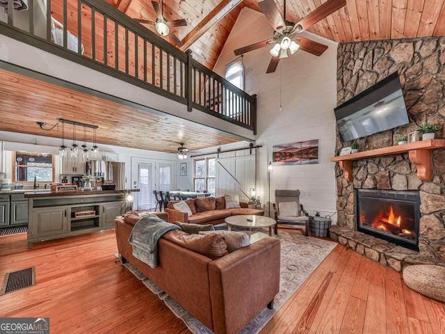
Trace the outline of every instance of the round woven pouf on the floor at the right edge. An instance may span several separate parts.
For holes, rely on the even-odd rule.
[[[445,267],[415,264],[403,269],[403,280],[415,292],[445,302]]]

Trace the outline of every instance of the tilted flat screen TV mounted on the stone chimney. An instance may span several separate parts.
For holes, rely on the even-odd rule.
[[[410,122],[395,72],[334,109],[342,141],[352,141]]]

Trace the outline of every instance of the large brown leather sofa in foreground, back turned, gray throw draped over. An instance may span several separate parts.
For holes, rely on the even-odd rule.
[[[168,214],[157,214],[168,220]],[[161,237],[158,267],[132,255],[133,223],[115,219],[122,262],[129,261],[216,334],[241,331],[280,290],[280,240],[266,237],[216,260]],[[174,232],[174,231],[170,231]]]

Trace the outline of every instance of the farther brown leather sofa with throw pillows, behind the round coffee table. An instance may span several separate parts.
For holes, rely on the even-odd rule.
[[[208,202],[213,201],[214,204],[208,205]],[[213,224],[218,225],[225,222],[225,218],[229,216],[236,216],[240,214],[254,214],[256,216],[264,216],[264,210],[249,209],[248,203],[240,202],[241,208],[226,209],[224,197],[207,197],[207,198],[193,198],[184,200],[191,209],[192,215],[188,216],[186,212],[176,210],[173,205],[179,200],[170,200],[165,212],[168,213],[170,223],[181,221],[182,223],[194,224]]]

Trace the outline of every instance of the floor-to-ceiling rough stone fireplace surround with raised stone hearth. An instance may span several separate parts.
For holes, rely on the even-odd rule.
[[[436,135],[445,138],[444,37],[340,43],[337,51],[337,105],[396,71],[401,79],[410,123],[359,138],[359,151],[396,145],[398,135],[413,132],[421,122],[427,120],[439,122],[442,129]],[[350,142],[341,143],[337,136],[336,155],[347,146],[350,146]],[[408,159],[407,153],[353,161],[351,182],[346,179],[339,164],[336,164],[335,169],[338,220],[337,225],[330,230],[334,241],[396,271],[401,271],[407,264],[445,266],[445,150],[431,151],[432,177],[426,181],[419,180],[416,165]],[[407,248],[407,244],[396,243],[399,240],[394,239],[397,238],[391,241],[380,236],[376,238],[368,233],[369,230],[380,232],[373,231],[373,226],[357,225],[360,217],[356,214],[356,192],[362,190],[418,194],[418,227],[405,229],[417,234],[414,243],[418,244],[418,248],[414,247],[413,250],[409,249],[413,247]],[[398,209],[393,205],[392,214],[396,219],[398,216],[403,218],[405,213],[399,213]],[[359,207],[360,211],[362,207]],[[369,213],[366,215],[369,216]],[[382,221],[380,225],[392,230],[391,234],[400,234],[397,226],[387,225],[390,215],[391,205],[389,212],[386,208],[377,217],[378,221]]]

